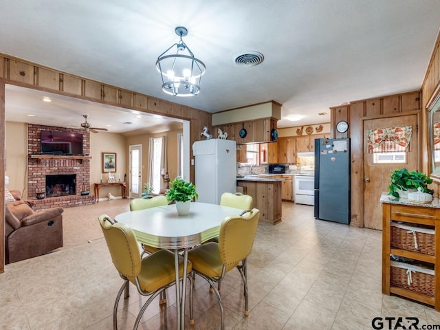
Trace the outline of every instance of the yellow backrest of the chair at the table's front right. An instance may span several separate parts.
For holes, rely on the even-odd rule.
[[[235,265],[252,251],[260,210],[256,208],[224,219],[220,225],[219,252],[223,265]]]

